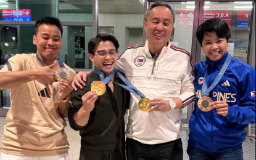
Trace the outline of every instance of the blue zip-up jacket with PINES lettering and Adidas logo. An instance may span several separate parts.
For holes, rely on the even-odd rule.
[[[245,129],[255,124],[255,70],[252,66],[232,58],[228,69],[218,85],[209,93],[213,101],[226,101],[227,116],[217,114],[216,109],[203,112],[197,102],[202,95],[202,79],[209,73],[208,85],[212,85],[228,52],[217,62],[199,62],[196,70],[196,105],[189,122],[189,144],[209,152],[223,152],[242,146]]]

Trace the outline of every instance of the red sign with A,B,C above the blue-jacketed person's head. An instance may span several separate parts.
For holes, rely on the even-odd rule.
[[[205,11],[204,21],[210,18],[220,18],[221,20],[225,20],[226,23],[228,23],[229,28],[231,28],[232,11]]]

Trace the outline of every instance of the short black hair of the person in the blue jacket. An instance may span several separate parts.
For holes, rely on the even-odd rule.
[[[202,46],[202,42],[204,39],[204,35],[207,32],[215,31],[218,35],[218,38],[226,38],[226,41],[231,38],[231,33],[229,30],[228,23],[225,20],[221,20],[219,18],[211,18],[202,23],[196,31],[197,39]]]

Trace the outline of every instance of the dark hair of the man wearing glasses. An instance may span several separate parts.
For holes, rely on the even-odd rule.
[[[97,34],[96,37],[92,38],[89,43],[88,43],[88,52],[89,54],[95,54],[96,52],[96,47],[100,42],[105,42],[105,41],[110,41],[114,44],[115,49],[118,52],[118,48],[120,47],[119,42],[117,41],[117,38],[115,36],[112,36],[111,34]]]

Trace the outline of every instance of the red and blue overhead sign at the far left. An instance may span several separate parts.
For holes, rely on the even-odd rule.
[[[31,21],[31,9],[3,9],[3,21]]]

